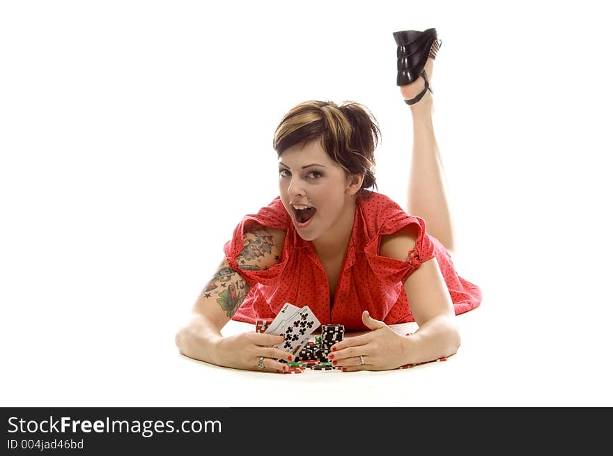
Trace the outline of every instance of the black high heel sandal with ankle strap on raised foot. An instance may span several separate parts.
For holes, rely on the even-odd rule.
[[[398,49],[396,56],[398,57],[398,77],[396,77],[397,86],[405,86],[411,84],[418,77],[423,77],[426,81],[426,87],[417,97],[412,100],[405,100],[406,104],[415,104],[421,100],[421,97],[426,95],[426,91],[434,93],[430,88],[428,74],[426,74],[426,61],[428,57],[436,59],[436,53],[442,45],[442,40],[438,40],[436,29],[426,29],[424,31],[403,30],[393,33],[394,40]]]

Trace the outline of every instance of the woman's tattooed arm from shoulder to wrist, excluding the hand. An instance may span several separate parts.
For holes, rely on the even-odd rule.
[[[281,257],[284,240],[285,232],[282,230],[255,226],[245,232],[245,246],[236,260],[242,269],[271,267]],[[175,343],[179,351],[185,356],[208,363],[232,364],[232,360],[221,359],[219,356],[219,345],[224,340],[221,330],[250,290],[245,279],[231,269],[224,258],[196,299],[189,322],[176,334]],[[245,337],[242,340],[245,347],[248,343],[256,342]]]

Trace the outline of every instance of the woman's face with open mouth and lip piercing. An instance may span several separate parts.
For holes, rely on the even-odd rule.
[[[328,157],[320,141],[297,144],[279,157],[279,196],[298,235],[307,241],[334,228],[350,198],[348,183],[345,170]],[[295,205],[311,209],[299,211]]]

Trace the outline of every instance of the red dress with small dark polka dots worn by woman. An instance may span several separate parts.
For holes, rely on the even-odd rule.
[[[243,233],[251,224],[286,231],[280,261],[265,270],[241,269],[235,258],[240,254]],[[396,233],[411,223],[419,227],[415,248],[408,261],[379,255],[381,237]],[[233,320],[255,324],[258,318],[274,318],[286,302],[309,306],[321,324],[344,324],[346,329],[364,330],[362,312],[386,324],[413,322],[404,282],[422,262],[436,257],[449,289],[456,315],[481,304],[481,289],[458,276],[447,249],[426,233],[421,217],[407,214],[389,197],[366,191],[356,201],[352,235],[347,246],[334,305],[330,306],[325,269],[310,241],[297,234],[281,198],[248,214],[236,226],[224,245],[230,267],[251,285],[251,290]]]

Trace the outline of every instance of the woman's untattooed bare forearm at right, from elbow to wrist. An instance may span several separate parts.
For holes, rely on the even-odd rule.
[[[451,356],[460,347],[460,332],[455,316],[441,315],[425,322],[406,338],[407,363],[425,363]]]

